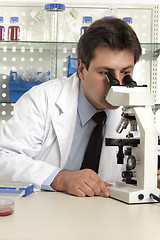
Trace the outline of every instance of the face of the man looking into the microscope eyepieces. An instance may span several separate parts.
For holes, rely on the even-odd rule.
[[[87,70],[84,64],[78,61],[78,74],[84,95],[97,109],[115,109],[104,98],[107,90],[105,74],[111,72],[122,84],[125,75],[133,75],[134,55],[129,50],[112,50],[99,47]]]

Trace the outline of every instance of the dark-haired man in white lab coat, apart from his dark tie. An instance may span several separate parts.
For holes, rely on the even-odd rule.
[[[14,106],[0,135],[0,182],[31,182],[35,188],[75,196],[109,196],[108,183],[121,179],[117,147],[103,146],[98,174],[82,169],[94,127],[91,117],[106,112],[105,137],[125,137],[115,129],[121,110],[104,98],[106,72],[122,84],[133,74],[141,46],[123,20],[102,18],[88,28],[77,46],[78,70],[70,78],[33,87]],[[104,140],[103,139],[103,140]]]

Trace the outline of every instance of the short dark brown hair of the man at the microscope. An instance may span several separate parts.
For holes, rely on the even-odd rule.
[[[88,70],[95,50],[106,46],[113,50],[128,49],[134,54],[134,64],[139,60],[142,49],[135,31],[119,18],[101,18],[93,22],[79,39],[77,57]]]

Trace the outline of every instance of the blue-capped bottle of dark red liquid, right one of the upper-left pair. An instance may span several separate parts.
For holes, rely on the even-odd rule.
[[[20,27],[18,26],[19,17],[10,17],[10,26],[8,27],[8,40],[20,40]]]

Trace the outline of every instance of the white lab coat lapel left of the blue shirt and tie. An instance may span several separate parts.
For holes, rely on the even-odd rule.
[[[73,77],[70,83],[65,84],[56,105],[60,109],[60,115],[53,120],[54,130],[57,135],[60,150],[60,168],[63,168],[71,149],[78,104],[79,79]]]

